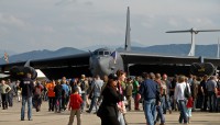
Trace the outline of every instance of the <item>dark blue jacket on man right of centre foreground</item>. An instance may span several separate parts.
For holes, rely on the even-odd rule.
[[[144,100],[160,100],[158,84],[152,79],[146,79],[141,83],[140,93],[144,96]]]

